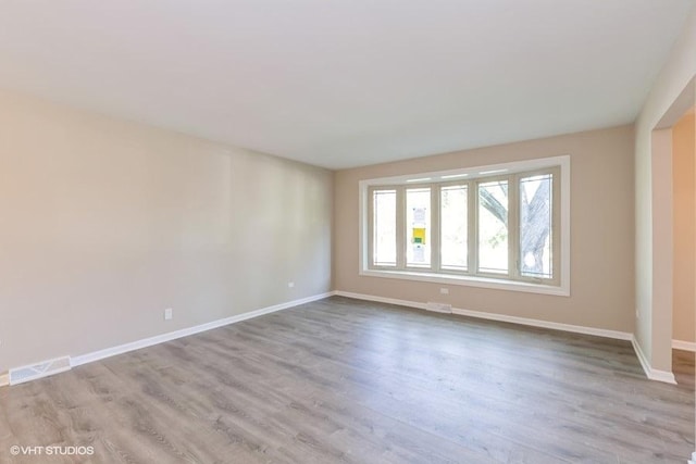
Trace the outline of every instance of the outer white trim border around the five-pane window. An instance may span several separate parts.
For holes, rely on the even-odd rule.
[[[423,179],[424,181],[443,181],[447,179],[447,176],[461,175],[463,178],[467,176],[478,177],[482,173],[492,172],[505,172],[518,173],[525,171],[543,170],[549,167],[560,168],[560,280],[558,286],[535,284],[519,280],[487,278],[480,276],[464,276],[455,274],[442,274],[442,273],[427,273],[427,272],[411,272],[411,271],[393,271],[393,269],[375,269],[369,267],[368,255],[368,242],[370,237],[368,211],[369,211],[369,195],[368,190],[371,186],[382,185],[398,185],[406,184],[408,180]],[[525,160],[511,163],[500,163],[484,166],[472,166],[460,170],[437,171],[430,173],[414,173],[409,175],[394,176],[394,177],[381,177],[375,179],[364,179],[359,181],[359,275],[366,277],[383,277],[383,278],[396,278],[403,280],[417,280],[425,283],[436,283],[443,285],[460,285],[480,288],[489,288],[498,290],[512,290],[523,291],[542,294],[555,294],[562,297],[570,297],[570,244],[571,244],[571,231],[570,231],[570,172],[571,163],[570,155],[542,158],[535,160]]]

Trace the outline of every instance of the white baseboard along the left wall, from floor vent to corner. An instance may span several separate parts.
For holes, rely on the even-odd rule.
[[[314,294],[312,297],[302,298],[300,300],[288,301],[286,303],[275,304],[273,306],[262,308],[260,310],[250,311],[248,313],[237,314],[231,317],[225,317],[217,321],[212,321],[206,324],[197,325],[194,327],[183,328],[181,330],[170,331],[167,334],[158,335],[154,337],[144,338],[141,340],[132,341],[129,343],[120,344],[117,347],[107,348],[104,350],[94,351],[91,353],[80,354],[71,358],[71,366],[79,366],[83,364],[91,363],[95,361],[103,360],[105,358],[115,356],[116,354],[127,353],[128,351],[139,350],[141,348],[151,347],[153,344],[163,343],[165,341],[175,340],[182,337],[188,337],[189,335],[200,334],[201,331],[212,330],[222,326],[247,321],[253,317],[259,317],[264,314],[274,313],[276,311],[287,310],[289,308],[299,306],[300,304],[311,303],[312,301],[323,300],[333,296],[334,292]]]

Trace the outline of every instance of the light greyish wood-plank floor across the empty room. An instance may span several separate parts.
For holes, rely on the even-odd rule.
[[[625,341],[334,297],[1,388],[0,462],[685,464],[675,359],[666,385]]]

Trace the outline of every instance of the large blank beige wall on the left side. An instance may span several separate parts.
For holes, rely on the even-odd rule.
[[[332,195],[325,170],[0,92],[0,373],[328,291]]]

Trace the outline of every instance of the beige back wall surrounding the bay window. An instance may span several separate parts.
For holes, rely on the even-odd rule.
[[[335,177],[335,289],[633,331],[633,127],[623,126],[339,171]],[[415,283],[358,274],[361,179],[571,155],[571,297]]]

